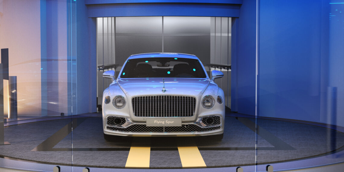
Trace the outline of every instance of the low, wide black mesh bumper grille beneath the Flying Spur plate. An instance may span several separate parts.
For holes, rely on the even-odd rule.
[[[107,127],[108,130],[123,131],[123,132],[202,132],[221,129],[221,126],[202,128],[194,124],[185,125],[181,127],[147,127],[144,124],[134,124],[127,128]]]

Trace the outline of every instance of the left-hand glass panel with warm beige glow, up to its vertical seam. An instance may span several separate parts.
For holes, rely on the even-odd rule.
[[[0,2],[1,167],[72,171],[75,3]]]

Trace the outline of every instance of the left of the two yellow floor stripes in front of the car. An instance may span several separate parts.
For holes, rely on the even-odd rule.
[[[131,143],[126,168],[149,168],[150,137],[134,137]]]

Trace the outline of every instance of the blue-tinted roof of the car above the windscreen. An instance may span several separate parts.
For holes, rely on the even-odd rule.
[[[147,58],[147,57],[179,57],[179,58],[198,59],[198,57],[195,56],[195,55],[183,54],[183,53],[144,53],[144,54],[134,54],[134,55],[131,55],[128,59]]]

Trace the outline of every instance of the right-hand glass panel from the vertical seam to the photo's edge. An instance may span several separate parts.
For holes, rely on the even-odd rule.
[[[269,142],[257,139],[258,171],[343,162],[344,4],[258,7],[257,131]]]

